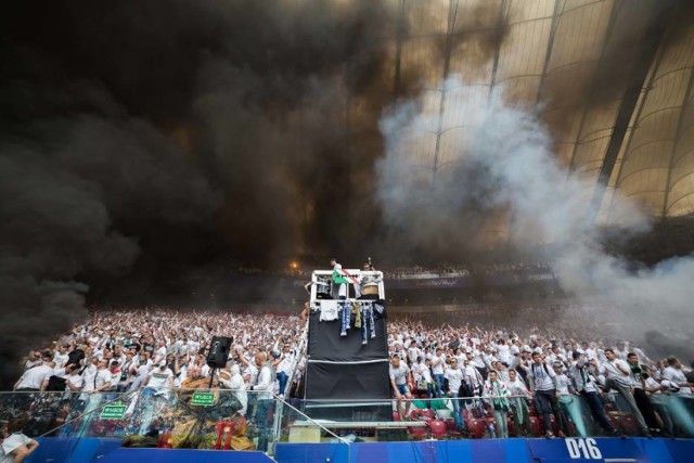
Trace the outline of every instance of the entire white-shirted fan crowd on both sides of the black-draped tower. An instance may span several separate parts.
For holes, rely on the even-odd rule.
[[[613,389],[637,417],[641,433],[650,435],[671,434],[678,425],[677,420],[665,420],[656,397],[692,396],[694,380],[677,358],[654,360],[633,344],[589,337],[590,330],[514,323],[517,332],[513,332],[490,324],[472,326],[453,314],[446,318],[448,322],[440,325],[396,318],[388,322],[394,395],[397,399],[411,398],[412,393],[429,398],[487,396],[502,437],[507,436],[509,412],[520,419],[517,425],[527,425],[523,416],[529,402],[519,397],[535,397],[550,436],[551,415],[566,434],[562,417],[568,415],[576,423],[570,408],[562,413],[566,408],[562,397],[583,396],[593,419],[605,432],[617,433],[597,398]],[[220,387],[239,391],[245,411],[245,390],[296,394],[305,362],[303,329],[298,317],[262,312],[94,311],[50,348],[31,351],[14,389],[93,394],[200,387],[210,376],[206,352],[213,336],[233,336],[230,361],[217,381]],[[273,366],[272,377],[259,385],[265,363]],[[461,403],[465,402],[452,401],[453,417],[464,432]],[[475,403],[466,406],[478,407]],[[407,411],[406,407],[403,416]]]

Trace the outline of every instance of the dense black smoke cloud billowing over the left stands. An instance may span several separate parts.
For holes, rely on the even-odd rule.
[[[86,298],[184,292],[217,261],[374,229],[394,11],[29,0],[0,17],[0,388]]]

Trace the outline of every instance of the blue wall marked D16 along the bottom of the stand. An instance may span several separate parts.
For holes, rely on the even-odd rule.
[[[42,438],[29,463],[196,463],[272,462],[258,451],[211,451],[192,449],[127,449],[120,439]],[[692,439],[567,438],[425,440],[416,442],[278,443],[279,463],[409,463],[409,462],[639,462],[680,463],[692,461]]]

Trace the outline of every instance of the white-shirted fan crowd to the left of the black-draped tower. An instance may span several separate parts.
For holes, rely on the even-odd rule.
[[[301,329],[298,317],[272,313],[95,311],[50,348],[31,351],[14,389],[64,386],[70,391],[125,393],[185,387],[193,380],[209,377],[206,352],[214,336],[233,337],[230,356],[237,366],[233,371],[243,377],[236,386],[245,388],[256,381],[258,353],[285,380],[295,364]]]

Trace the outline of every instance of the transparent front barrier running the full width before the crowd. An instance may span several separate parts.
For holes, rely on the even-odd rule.
[[[547,411],[528,396],[318,403],[224,389],[2,393],[0,421],[25,417],[24,433],[47,443],[39,460],[54,462],[92,461],[98,452],[115,448],[260,450],[272,455],[280,442],[327,443],[335,461],[350,454],[349,442],[532,438],[547,436],[547,430],[579,439],[646,433],[694,437],[691,397],[651,395],[651,411],[641,416],[620,395],[595,398],[591,403],[582,396],[561,396],[556,410]],[[314,419],[318,410],[320,421]],[[596,410],[604,412],[604,422]],[[98,448],[75,459],[85,451],[80,441],[94,439]],[[55,454],[49,455],[51,446]]]

